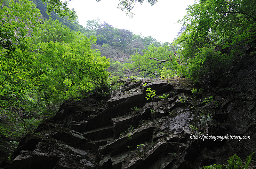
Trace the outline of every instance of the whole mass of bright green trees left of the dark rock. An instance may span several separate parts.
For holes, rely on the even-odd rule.
[[[2,5],[2,2],[1,2]],[[105,90],[109,60],[94,37],[40,19],[29,0],[0,8],[0,142],[17,141],[70,99]],[[9,144],[9,143],[8,143]]]

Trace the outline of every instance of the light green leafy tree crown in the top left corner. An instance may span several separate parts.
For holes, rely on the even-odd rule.
[[[20,0],[20,3],[10,1],[9,6],[10,9],[4,6],[0,10],[1,53],[8,54],[15,48],[25,50],[28,44],[28,32],[33,32],[40,24],[37,19],[40,15],[39,10],[31,1]]]

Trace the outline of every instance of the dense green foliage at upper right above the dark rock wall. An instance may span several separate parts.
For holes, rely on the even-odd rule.
[[[254,46],[255,6],[250,0],[201,0],[189,6],[182,20],[186,30],[175,40],[183,74],[209,84],[239,60],[241,45]]]

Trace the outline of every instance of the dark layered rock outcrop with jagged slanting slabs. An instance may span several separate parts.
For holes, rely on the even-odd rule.
[[[255,151],[255,96],[248,106],[232,95],[196,102],[186,79],[128,79],[125,87],[104,105],[90,96],[63,104],[22,139],[9,169],[196,169]],[[149,100],[147,88],[156,91]],[[163,94],[167,107],[157,97]],[[209,135],[251,138],[196,139],[196,128],[204,127],[200,114],[207,113],[216,121]]]

